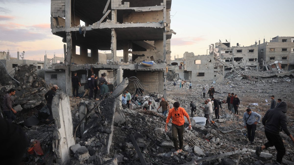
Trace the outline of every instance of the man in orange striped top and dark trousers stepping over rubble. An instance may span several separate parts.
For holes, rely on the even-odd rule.
[[[176,151],[173,153],[175,155],[183,151],[183,144],[184,144],[183,133],[184,133],[184,123],[185,123],[184,116],[186,116],[186,118],[188,119],[189,130],[191,130],[191,121],[190,121],[190,117],[188,113],[186,112],[184,108],[180,107],[179,102],[174,102],[173,108],[170,109],[168,112],[168,117],[166,119],[165,132],[167,132],[167,124],[172,117],[171,131],[173,134],[173,144],[176,149]],[[178,146],[177,134],[179,137],[180,147]]]

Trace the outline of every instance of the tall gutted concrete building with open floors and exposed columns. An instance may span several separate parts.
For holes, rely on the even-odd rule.
[[[164,72],[171,61],[170,39],[175,34],[170,29],[170,11],[171,0],[51,0],[52,33],[66,43],[65,64],[52,69],[65,70],[66,93],[71,94],[74,71],[82,75],[101,70],[113,70],[114,86],[123,78],[136,76],[148,91],[165,91]],[[85,24],[80,25],[81,21]],[[98,50],[111,50],[111,60],[98,63]],[[117,50],[123,50],[122,65],[114,65]],[[142,61],[161,63],[150,67],[139,65]],[[128,88],[136,87],[130,84]]]

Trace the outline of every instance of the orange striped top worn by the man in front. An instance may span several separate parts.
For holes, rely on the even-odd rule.
[[[187,118],[189,118],[188,113],[186,112],[186,110],[182,107],[179,107],[178,110],[176,111],[174,108],[170,109],[168,112],[168,117],[166,119],[166,122],[168,123],[169,120],[172,117],[172,123],[176,124],[178,126],[181,126],[185,123],[185,119],[184,116],[186,116]]]

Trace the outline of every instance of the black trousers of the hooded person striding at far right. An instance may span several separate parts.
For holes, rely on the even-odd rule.
[[[277,149],[277,162],[282,163],[283,156],[286,154],[286,149],[280,134],[272,134],[267,131],[264,132],[266,138],[268,139],[268,142],[264,144],[265,148],[275,146]]]

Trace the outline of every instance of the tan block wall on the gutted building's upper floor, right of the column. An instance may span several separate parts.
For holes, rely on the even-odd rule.
[[[163,11],[142,11],[142,12],[124,12],[123,23],[147,23],[159,22],[163,20]]]

